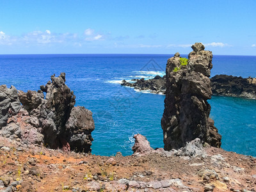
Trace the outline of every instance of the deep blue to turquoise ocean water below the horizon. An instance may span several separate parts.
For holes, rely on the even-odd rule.
[[[152,147],[163,147],[161,116],[164,95],[135,92],[122,79],[162,75],[173,54],[50,54],[0,55],[0,84],[18,90],[38,90],[52,74],[66,73],[76,105],[93,112],[92,153],[132,154],[136,133]],[[214,56],[212,76],[256,77],[256,56]],[[211,117],[223,136],[222,148],[256,156],[256,100],[212,97]]]

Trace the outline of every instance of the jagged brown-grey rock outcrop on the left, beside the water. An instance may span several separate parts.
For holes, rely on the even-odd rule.
[[[51,81],[40,86],[38,92],[19,91],[23,108],[17,115],[9,116],[0,134],[20,138],[27,144],[43,143],[50,148],[90,152],[91,132],[95,128],[92,112],[80,106],[74,107],[75,98],[65,84],[65,73],[59,77],[51,76]]]

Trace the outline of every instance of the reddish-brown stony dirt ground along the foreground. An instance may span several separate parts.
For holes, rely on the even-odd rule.
[[[205,158],[106,157],[0,143],[0,191],[256,190],[256,159],[221,148],[205,148]]]

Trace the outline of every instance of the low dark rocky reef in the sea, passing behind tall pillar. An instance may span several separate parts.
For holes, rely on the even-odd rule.
[[[132,80],[134,81],[132,83],[123,80],[121,85],[140,91],[149,90],[151,93],[161,95],[166,93],[166,76],[156,76],[148,80],[144,78]],[[216,75],[211,77],[211,89],[212,95],[256,99],[256,78]]]

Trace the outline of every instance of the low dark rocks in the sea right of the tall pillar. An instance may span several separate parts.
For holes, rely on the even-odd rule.
[[[214,95],[256,99],[256,78],[218,75],[211,78]]]

